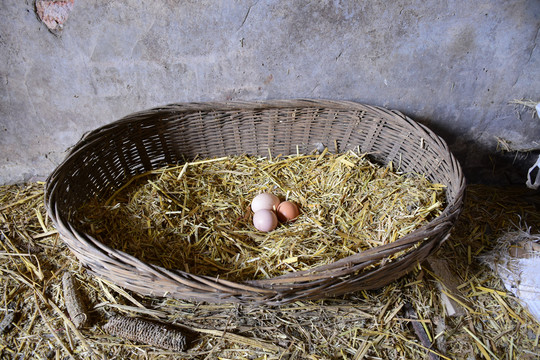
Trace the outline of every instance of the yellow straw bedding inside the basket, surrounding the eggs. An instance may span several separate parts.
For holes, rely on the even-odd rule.
[[[394,242],[439,216],[444,186],[391,166],[327,149],[187,162],[142,174],[78,216],[100,242],[145,262],[231,281],[269,279]],[[297,203],[301,216],[257,231],[250,201],[265,191]]]

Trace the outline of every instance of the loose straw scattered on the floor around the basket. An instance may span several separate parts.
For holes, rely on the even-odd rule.
[[[92,276],[47,216],[42,183],[0,187],[0,358],[538,359],[540,324],[481,260],[509,231],[526,224],[540,231],[538,194],[479,185],[467,194],[455,231],[436,254],[454,288],[422,263],[379,290],[262,307],[141,296]],[[80,329],[67,313],[65,272],[86,299]],[[445,293],[460,312],[448,314]],[[160,327],[171,331],[169,339],[174,325],[186,335],[186,349],[161,349],[163,339],[154,346],[129,340],[137,333],[109,334],[119,316],[169,324]]]

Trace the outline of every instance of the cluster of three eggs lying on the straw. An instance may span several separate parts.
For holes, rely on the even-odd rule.
[[[271,193],[255,196],[251,202],[251,210],[253,211],[253,225],[262,232],[274,230],[278,225],[278,220],[293,221],[300,214],[295,203],[281,202],[276,195]]]

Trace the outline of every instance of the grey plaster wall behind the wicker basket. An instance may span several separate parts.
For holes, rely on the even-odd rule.
[[[492,182],[534,162],[497,137],[540,148],[540,120],[509,104],[540,100],[539,27],[537,0],[75,0],[53,33],[33,1],[3,0],[0,184],[43,179],[86,131],[138,110],[290,98],[400,110]]]

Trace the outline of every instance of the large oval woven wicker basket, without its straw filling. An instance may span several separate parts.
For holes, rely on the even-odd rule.
[[[74,214],[133,176],[195,157],[360,149],[381,164],[446,185],[440,216],[393,243],[306,271],[231,282],[145,263],[78,229]],[[320,145],[319,145],[320,146]],[[337,147],[337,149],[335,149]],[[465,180],[445,142],[403,114],[344,101],[182,103],[138,112],[88,133],[49,176],[47,211],[61,238],[95,275],[142,295],[282,304],[362,289],[403,276],[448,238]],[[404,251],[407,250],[407,251]],[[403,254],[392,257],[397,253]]]

